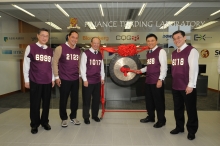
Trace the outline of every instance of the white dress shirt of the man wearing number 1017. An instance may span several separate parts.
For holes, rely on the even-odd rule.
[[[90,48],[89,51],[91,51],[92,53],[95,54],[95,50],[93,48]],[[85,52],[82,53],[81,56],[81,61],[80,61],[80,72],[81,72],[81,76],[83,81],[87,81],[87,77],[86,77],[86,63],[87,63],[87,56],[85,54]],[[104,80],[105,79],[105,72],[104,72],[104,62],[102,60],[101,63],[101,79]]]

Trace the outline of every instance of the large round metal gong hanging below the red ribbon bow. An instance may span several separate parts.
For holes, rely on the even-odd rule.
[[[130,68],[131,70],[137,70],[142,66],[136,55],[128,57],[115,55],[109,65],[110,77],[115,84],[119,86],[130,86],[139,79],[140,75],[133,72],[128,72],[127,76],[125,76],[124,73],[120,70],[122,67],[128,69]]]

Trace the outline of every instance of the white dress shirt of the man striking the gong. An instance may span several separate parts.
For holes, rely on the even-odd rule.
[[[152,50],[152,52],[157,49],[158,46],[156,45]],[[159,52],[159,62],[160,62],[160,80],[164,80],[167,75],[167,53],[164,49],[161,49]],[[142,73],[147,71],[147,66],[141,69]]]

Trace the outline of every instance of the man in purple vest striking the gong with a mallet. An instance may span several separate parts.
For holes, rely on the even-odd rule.
[[[157,46],[156,35],[147,35],[146,42],[150,48],[146,54],[147,66],[141,70],[137,70],[137,73],[146,72],[145,100],[148,116],[141,119],[140,122],[155,122],[156,110],[158,121],[154,124],[154,127],[160,128],[166,124],[163,81],[167,74],[167,54],[164,49]]]

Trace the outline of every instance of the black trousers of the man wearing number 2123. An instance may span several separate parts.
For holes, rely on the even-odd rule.
[[[79,79],[74,81],[67,81],[61,79],[60,85],[60,118],[67,120],[66,105],[70,95],[70,119],[76,118],[78,102],[79,102]]]

